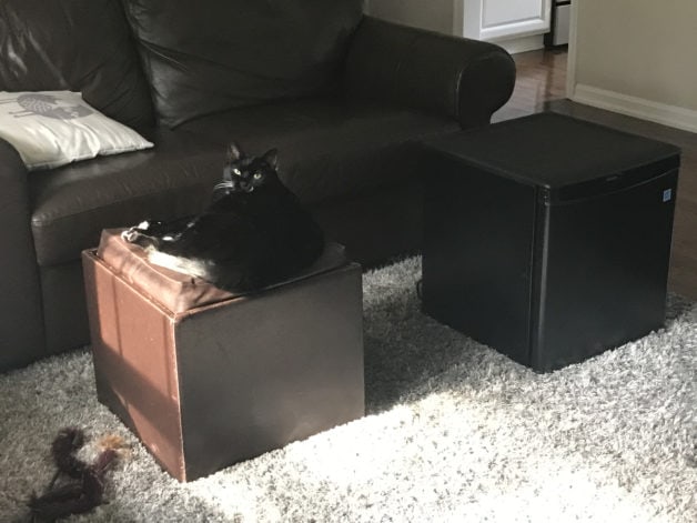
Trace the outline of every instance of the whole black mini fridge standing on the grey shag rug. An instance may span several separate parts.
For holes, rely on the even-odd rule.
[[[663,326],[676,147],[541,113],[422,162],[427,314],[536,371]]]

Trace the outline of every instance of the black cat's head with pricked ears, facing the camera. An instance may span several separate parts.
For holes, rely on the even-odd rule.
[[[215,190],[225,192],[252,192],[256,188],[277,180],[279,152],[266,151],[261,157],[248,157],[232,142],[228,147],[228,160],[223,168],[223,181]]]

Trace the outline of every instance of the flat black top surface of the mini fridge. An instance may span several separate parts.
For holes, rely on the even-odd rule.
[[[494,174],[549,190],[633,178],[637,172],[646,179],[677,168],[680,154],[677,147],[665,142],[553,112],[456,132],[423,144]],[[656,172],[651,173],[653,164]]]

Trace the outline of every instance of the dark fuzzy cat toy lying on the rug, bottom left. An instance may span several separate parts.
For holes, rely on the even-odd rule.
[[[84,442],[85,435],[80,429],[67,428],[58,433],[51,445],[57,471],[43,494],[31,494],[27,503],[31,522],[54,522],[72,514],[90,512],[104,503],[104,476],[122,454],[125,444],[120,436],[103,437],[100,454],[93,463],[88,464],[75,456]]]

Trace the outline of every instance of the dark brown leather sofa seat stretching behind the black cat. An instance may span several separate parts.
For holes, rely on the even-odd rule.
[[[145,133],[151,150],[30,173],[37,258],[43,266],[74,261],[98,244],[102,229],[199,212],[222,175],[230,140],[249,154],[279,148],[281,179],[312,209],[407,183],[418,174],[412,141],[456,127],[404,109],[306,100]]]

